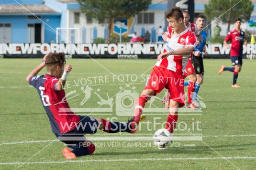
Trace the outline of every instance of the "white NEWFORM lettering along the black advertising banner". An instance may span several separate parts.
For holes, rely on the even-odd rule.
[[[0,54],[46,54],[48,52],[66,54],[118,54],[122,57],[136,58],[139,54],[157,55],[163,52],[164,44],[57,44],[57,43],[0,43]],[[206,51],[210,55],[228,55],[230,49],[223,44],[208,44]],[[256,54],[256,45],[244,45],[243,54]]]

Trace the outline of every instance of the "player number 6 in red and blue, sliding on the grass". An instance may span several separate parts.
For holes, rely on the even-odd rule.
[[[45,112],[49,117],[53,133],[64,142],[67,147],[62,150],[66,159],[75,159],[78,156],[90,155],[95,145],[86,140],[85,134],[94,134],[98,129],[108,133],[131,132],[134,124],[109,122],[103,118],[83,117],[74,114],[65,102],[64,86],[67,74],[72,70],[66,64],[64,53],[48,53],[43,62],[38,65],[26,78],[33,85],[40,97]],[[47,73],[37,75],[46,65]]]

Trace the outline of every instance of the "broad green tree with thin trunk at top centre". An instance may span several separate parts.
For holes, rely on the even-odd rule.
[[[108,23],[107,42],[110,42],[111,23],[116,17],[130,18],[148,9],[152,0],[78,0],[81,11],[99,23]]]

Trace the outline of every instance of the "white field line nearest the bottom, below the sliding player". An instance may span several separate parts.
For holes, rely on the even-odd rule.
[[[123,162],[123,161],[166,161],[166,160],[216,160],[216,159],[256,159],[256,157],[205,157],[205,158],[145,158],[145,159],[89,159],[89,160],[63,160],[63,161],[41,161],[41,162],[0,162],[0,165],[20,164],[55,164],[55,163],[84,163],[84,162]]]

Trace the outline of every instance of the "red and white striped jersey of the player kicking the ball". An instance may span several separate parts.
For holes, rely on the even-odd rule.
[[[174,35],[171,27],[167,27],[167,31],[168,35],[164,52],[185,48],[185,46],[195,47],[196,36],[190,32],[187,27],[184,32],[181,32],[178,35]],[[188,56],[191,55],[192,53],[187,56],[169,55],[160,61],[157,61],[156,66],[172,70],[178,74],[183,74],[188,62]]]

